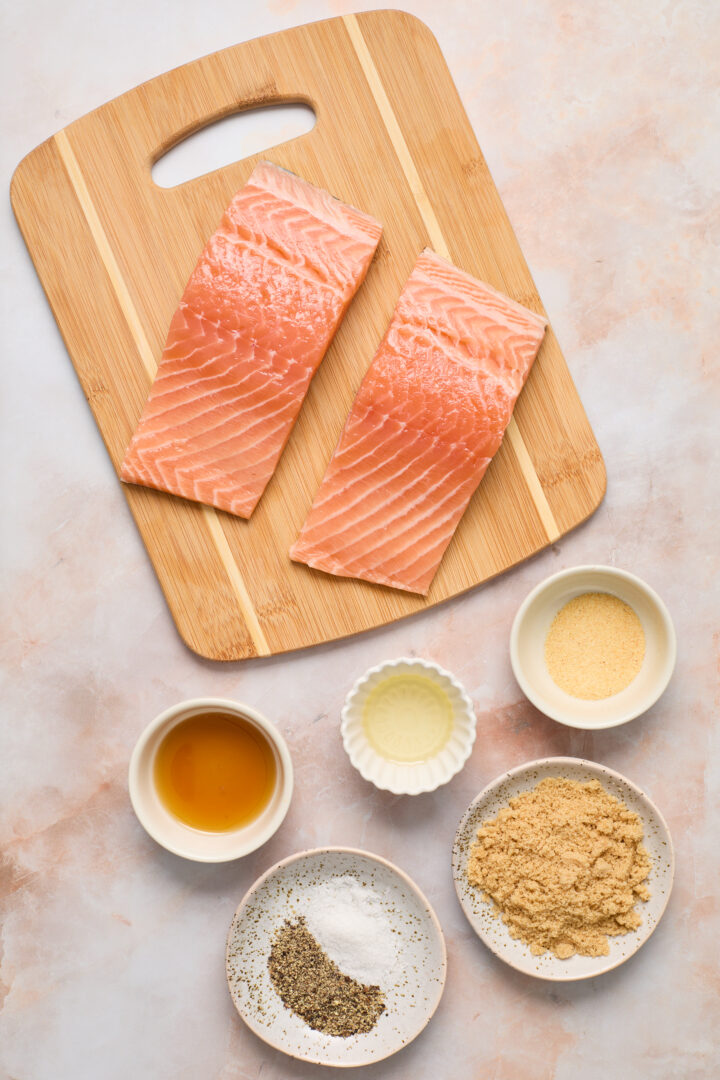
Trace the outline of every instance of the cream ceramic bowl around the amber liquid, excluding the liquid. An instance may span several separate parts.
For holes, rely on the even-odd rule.
[[[161,802],[153,781],[154,756],[171,728],[199,713],[226,713],[254,725],[275,756],[275,791],[262,813],[242,828],[209,833],[184,824]],[[161,713],[145,729],[133,751],[128,772],[130,798],[145,831],[168,851],[199,863],[223,863],[249,854],[269,840],[287,813],[293,795],[293,762],[282,734],[249,705],[221,698],[195,698]]]

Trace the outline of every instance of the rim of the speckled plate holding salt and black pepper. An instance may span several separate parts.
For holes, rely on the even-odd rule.
[[[232,989],[231,989],[231,986],[230,986],[230,955],[229,955],[230,954],[230,939],[231,939],[231,935],[232,935],[233,927],[235,926],[235,920],[240,918],[242,910],[247,906],[247,904],[252,900],[253,895],[261,888],[261,886],[268,880],[268,878],[271,877],[272,874],[275,874],[277,870],[283,869],[286,866],[291,866],[293,863],[301,862],[303,859],[308,859],[311,855],[328,855],[328,854],[359,855],[363,859],[369,859],[373,863],[379,863],[381,866],[384,866],[385,868],[388,868],[388,869],[392,870],[394,874],[396,874],[402,879],[402,881],[405,883],[405,886],[411,892],[413,892],[415,895],[420,900],[421,904],[423,905],[423,907],[427,912],[427,915],[430,916],[430,920],[431,920],[431,922],[433,924],[433,928],[435,930],[436,937],[437,937],[437,940],[440,943],[441,964],[440,964],[440,973],[439,973],[439,990],[438,990],[437,1000],[435,1002],[435,1005],[429,1012],[429,1014],[425,1017],[422,1026],[420,1028],[418,1028],[418,1030],[412,1036],[412,1038],[409,1040],[409,1042],[404,1043],[402,1047],[397,1047],[395,1050],[389,1051],[389,1053],[383,1054],[382,1057],[373,1057],[372,1061],[370,1061],[370,1062],[364,1062],[364,1063],[363,1062],[326,1062],[326,1061],[324,1061],[321,1057],[311,1057],[311,1056],[308,1056],[305,1054],[298,1055],[298,1054],[290,1054],[290,1053],[288,1053],[288,1051],[285,1049],[285,1047],[282,1044],[282,1042],[280,1040],[272,1039],[267,1034],[262,1034],[261,1031],[257,1030],[254,1025],[250,1025],[248,1023],[248,1021],[246,1020],[246,1017],[240,1011],[240,1008],[237,1005],[237,1002],[235,1001],[235,997],[234,997],[234,995],[232,993]],[[228,929],[228,936],[227,936],[227,940],[226,940],[226,947],[225,947],[225,973],[226,973],[226,980],[227,980],[227,983],[228,983],[228,990],[230,991],[230,998],[231,998],[232,1003],[233,1003],[233,1005],[235,1008],[235,1011],[236,1011],[237,1015],[240,1016],[240,1018],[242,1020],[242,1022],[244,1024],[246,1024],[250,1028],[250,1030],[253,1031],[254,1035],[256,1035],[259,1039],[262,1039],[262,1041],[264,1043],[267,1043],[267,1045],[272,1047],[273,1050],[280,1050],[281,1053],[286,1054],[289,1057],[293,1057],[295,1061],[308,1062],[308,1064],[310,1064],[310,1065],[323,1065],[326,1068],[337,1068],[337,1069],[366,1068],[368,1065],[377,1065],[379,1062],[384,1062],[389,1057],[392,1057],[394,1054],[397,1054],[400,1050],[405,1050],[406,1047],[409,1047],[410,1042],[415,1042],[415,1040],[418,1038],[418,1036],[420,1036],[425,1030],[425,1028],[430,1024],[431,1020],[435,1015],[435,1013],[437,1011],[437,1007],[439,1005],[440,1001],[443,1000],[443,994],[445,993],[445,983],[447,981],[447,972],[448,972],[448,950],[447,950],[447,945],[445,943],[445,934],[443,932],[443,927],[440,924],[440,920],[438,919],[437,915],[435,914],[435,908],[430,903],[430,901],[425,896],[425,894],[422,891],[422,889],[420,888],[420,886],[417,885],[412,880],[412,878],[410,877],[409,874],[406,874],[405,870],[402,870],[399,868],[399,866],[396,866],[395,863],[392,863],[389,859],[383,859],[382,855],[378,855],[373,851],[366,851],[364,848],[349,848],[349,847],[344,847],[342,845],[327,845],[327,846],[320,847],[320,848],[305,848],[302,851],[296,851],[296,852],[294,852],[294,854],[286,855],[284,859],[280,859],[276,863],[273,863],[272,866],[270,866],[263,874],[260,875],[259,878],[257,878],[257,880],[255,880],[253,882],[253,885],[247,889],[245,895],[243,896],[243,899],[241,900],[240,904],[235,908],[234,915],[232,916],[232,919],[230,920],[230,927]]]

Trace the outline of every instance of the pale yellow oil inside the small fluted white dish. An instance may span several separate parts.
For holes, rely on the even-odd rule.
[[[363,728],[381,757],[419,765],[435,757],[450,738],[452,703],[426,675],[391,675],[370,690]]]

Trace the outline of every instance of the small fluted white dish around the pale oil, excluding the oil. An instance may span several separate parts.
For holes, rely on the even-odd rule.
[[[418,674],[445,690],[452,705],[452,731],[443,750],[427,761],[400,765],[381,757],[368,743],[363,728],[363,710],[370,691],[392,675]],[[429,660],[402,658],[370,667],[348,694],[340,725],[342,744],[359,774],[394,795],[419,795],[447,784],[460,772],[475,742],[473,703],[458,680]]]

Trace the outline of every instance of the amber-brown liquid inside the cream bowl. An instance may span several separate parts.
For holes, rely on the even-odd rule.
[[[191,828],[222,833],[249,824],[275,788],[275,755],[240,716],[200,713],[172,728],[158,747],[154,783],[167,810]]]

